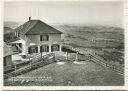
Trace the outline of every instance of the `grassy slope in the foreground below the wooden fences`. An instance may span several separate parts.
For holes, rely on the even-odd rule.
[[[9,82],[6,85],[24,86],[117,86],[124,85],[124,77],[110,69],[93,62],[84,61],[81,64],[65,62],[53,63],[45,67],[17,76],[21,81]],[[26,80],[24,79],[26,78]],[[33,78],[39,79],[32,81]],[[41,80],[40,80],[41,78]]]

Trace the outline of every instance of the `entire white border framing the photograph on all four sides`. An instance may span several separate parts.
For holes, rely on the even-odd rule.
[[[125,3],[124,5],[124,26],[125,26],[125,86],[3,86],[3,79],[0,81],[1,89],[3,90],[128,90],[128,53],[126,50],[128,50],[128,6],[126,4],[127,1],[125,0],[5,0],[1,1],[0,3],[0,60],[3,59],[3,3],[4,2],[13,2],[13,1],[18,1],[18,2],[24,2],[24,1],[123,1]],[[3,78],[3,65],[2,61],[0,61],[0,78]]]

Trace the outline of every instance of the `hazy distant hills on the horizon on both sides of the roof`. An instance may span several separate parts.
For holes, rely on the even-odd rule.
[[[9,27],[12,29],[17,28],[24,22],[13,22],[13,21],[6,21],[4,22],[4,27]],[[64,33],[72,33],[75,32],[81,32],[81,33],[95,33],[95,32],[107,32],[107,33],[124,33],[124,29],[120,27],[110,27],[110,26],[87,26],[87,25],[73,25],[73,24],[55,24],[52,25],[56,29],[64,32]]]

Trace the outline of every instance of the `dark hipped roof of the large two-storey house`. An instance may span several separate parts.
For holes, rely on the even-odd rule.
[[[15,29],[23,34],[61,34],[59,30],[49,26],[40,20],[29,20]]]

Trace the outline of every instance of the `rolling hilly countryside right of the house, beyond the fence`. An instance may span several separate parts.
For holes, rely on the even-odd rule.
[[[123,68],[124,30],[105,26],[57,26],[63,31],[62,43],[85,52],[94,53],[108,64]],[[87,52],[86,51],[86,52]]]

